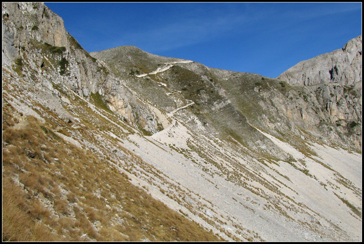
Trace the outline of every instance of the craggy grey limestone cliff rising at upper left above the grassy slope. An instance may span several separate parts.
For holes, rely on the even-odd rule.
[[[2,17],[3,67],[16,69],[30,85],[47,88],[55,95],[49,102],[51,106],[60,103],[55,86],[74,91],[86,100],[99,94],[112,111],[133,127],[150,133],[157,131],[156,123],[146,122],[155,121],[149,108],[133,98],[102,61],[92,58],[66,32],[62,18],[43,3],[2,3]],[[70,117],[61,112],[61,106],[58,110]]]

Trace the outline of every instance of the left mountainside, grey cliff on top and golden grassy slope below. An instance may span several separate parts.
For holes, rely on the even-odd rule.
[[[221,240],[118,166],[140,159],[114,145],[111,131],[125,136],[136,131],[130,125],[156,124],[143,125],[148,107],[59,16],[42,3],[2,3],[2,27],[3,241]],[[124,105],[115,114],[102,98],[113,94]]]

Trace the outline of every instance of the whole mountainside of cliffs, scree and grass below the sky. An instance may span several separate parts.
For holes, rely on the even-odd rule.
[[[362,240],[361,36],[314,81],[87,53],[42,3],[2,32],[3,240]]]

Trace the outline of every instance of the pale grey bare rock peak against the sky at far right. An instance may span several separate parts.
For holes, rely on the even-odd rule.
[[[342,49],[302,61],[277,79],[290,84],[315,85],[327,82],[352,85],[362,79],[362,35]]]

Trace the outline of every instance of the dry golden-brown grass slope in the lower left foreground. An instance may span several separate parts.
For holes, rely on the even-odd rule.
[[[4,107],[3,240],[221,241],[92,152],[54,136],[55,126],[33,116],[16,126],[14,109]]]

